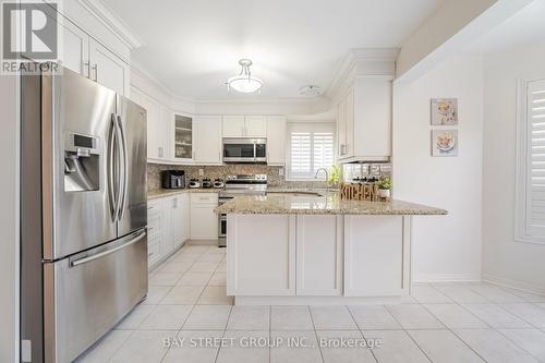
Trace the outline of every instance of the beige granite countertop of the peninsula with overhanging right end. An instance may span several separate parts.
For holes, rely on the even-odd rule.
[[[403,201],[367,202],[346,201],[338,193],[310,194],[311,191],[282,191],[267,196],[238,196],[220,207],[217,214],[264,215],[399,215],[434,216],[448,214],[445,209],[428,207]],[[319,193],[319,192],[318,192]]]

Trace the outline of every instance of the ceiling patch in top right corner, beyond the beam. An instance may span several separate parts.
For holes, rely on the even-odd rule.
[[[467,51],[492,53],[538,40],[545,41],[545,0],[534,0],[471,44]]]

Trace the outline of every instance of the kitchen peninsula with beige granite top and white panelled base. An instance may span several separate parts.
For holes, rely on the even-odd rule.
[[[227,293],[240,305],[399,300],[411,285],[412,217],[447,214],[308,192],[239,196],[216,211],[228,215]]]

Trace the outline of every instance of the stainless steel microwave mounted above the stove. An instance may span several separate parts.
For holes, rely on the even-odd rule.
[[[267,162],[267,138],[223,138],[223,162]]]

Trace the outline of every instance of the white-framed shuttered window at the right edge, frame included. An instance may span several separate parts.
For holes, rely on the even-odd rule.
[[[545,80],[521,82],[516,240],[545,243]]]

